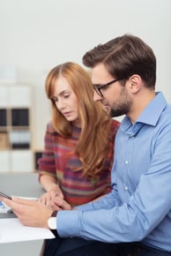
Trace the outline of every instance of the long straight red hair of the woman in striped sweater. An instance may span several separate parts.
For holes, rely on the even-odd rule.
[[[102,108],[100,102],[93,102],[93,86],[88,72],[75,63],[57,65],[48,73],[46,93],[52,98],[56,79],[62,75],[78,97],[78,116],[81,123],[81,134],[78,139],[76,154],[82,162],[83,175],[97,177],[104,168],[108,154],[108,139],[111,118]],[[56,132],[65,137],[71,136],[71,122],[67,121],[52,102],[52,125]],[[77,170],[77,169],[75,169]],[[79,169],[80,170],[80,169]]]

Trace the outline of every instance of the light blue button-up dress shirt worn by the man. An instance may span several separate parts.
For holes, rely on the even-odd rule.
[[[123,118],[115,138],[113,191],[60,211],[60,237],[102,242],[142,241],[171,251],[171,106],[157,93],[135,124]]]

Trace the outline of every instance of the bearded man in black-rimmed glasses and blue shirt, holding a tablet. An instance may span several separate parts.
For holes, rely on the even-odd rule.
[[[94,101],[108,102],[115,117],[126,115],[115,139],[113,191],[72,211],[58,200],[66,210],[54,227],[52,211],[38,202],[4,202],[25,225],[99,241],[61,255],[170,255],[171,106],[155,92],[152,49],[125,34],[85,53],[83,63],[92,68]]]

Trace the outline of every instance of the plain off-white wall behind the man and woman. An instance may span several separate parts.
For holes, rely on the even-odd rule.
[[[170,0],[0,0],[0,70],[16,69],[19,81],[33,85],[33,147],[42,147],[50,118],[48,71],[65,61],[81,64],[86,50],[125,33],[152,47],[156,89],[171,102]]]

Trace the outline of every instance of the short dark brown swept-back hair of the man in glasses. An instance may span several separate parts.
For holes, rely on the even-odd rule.
[[[93,68],[103,63],[115,79],[129,79],[138,74],[146,87],[155,87],[156,57],[138,36],[124,34],[87,51],[83,64]]]

